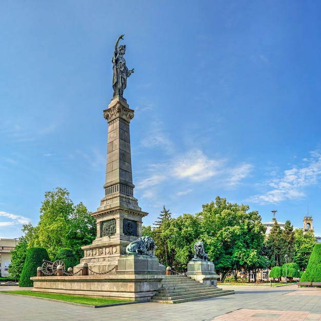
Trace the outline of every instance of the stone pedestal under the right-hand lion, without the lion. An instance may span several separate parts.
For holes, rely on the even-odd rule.
[[[214,263],[204,260],[190,261],[186,275],[207,286],[217,286],[219,275],[215,273]]]

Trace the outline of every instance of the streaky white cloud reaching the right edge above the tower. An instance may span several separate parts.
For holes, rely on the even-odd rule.
[[[321,154],[318,151],[310,153],[310,158],[304,158],[304,166],[295,166],[285,170],[282,177],[277,177],[265,182],[264,185],[271,188],[262,195],[254,195],[249,198],[255,203],[277,203],[285,199],[297,199],[305,197],[304,188],[319,183],[321,178]]]

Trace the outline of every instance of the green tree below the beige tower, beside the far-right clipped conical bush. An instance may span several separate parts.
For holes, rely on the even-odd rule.
[[[315,244],[316,240],[312,230],[305,234],[302,229],[294,231],[293,261],[299,266],[301,271],[307,268]]]

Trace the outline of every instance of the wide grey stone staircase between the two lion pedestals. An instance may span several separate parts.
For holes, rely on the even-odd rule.
[[[162,287],[150,302],[182,303],[230,294],[234,294],[234,291],[206,286],[186,275],[166,275]]]

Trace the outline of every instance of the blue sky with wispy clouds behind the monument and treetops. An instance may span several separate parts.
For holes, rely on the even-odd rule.
[[[104,196],[112,63],[125,34],[134,196],[152,224],[217,195],[321,234],[321,2],[0,2],[0,237],[46,191]]]

